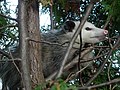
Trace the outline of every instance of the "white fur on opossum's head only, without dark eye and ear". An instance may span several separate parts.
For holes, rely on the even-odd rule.
[[[67,33],[67,36],[72,37],[74,32],[77,30],[80,22],[75,21],[75,27],[73,32]],[[91,28],[92,30],[87,31],[86,27]],[[92,23],[86,22],[82,28],[82,42],[83,43],[97,43],[105,39],[105,35],[108,33],[107,30],[100,29],[95,27]],[[77,42],[80,41],[79,37],[76,40]]]

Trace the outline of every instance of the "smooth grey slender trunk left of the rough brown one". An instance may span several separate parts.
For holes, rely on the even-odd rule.
[[[28,41],[25,38],[28,37],[28,16],[27,16],[27,6],[28,3],[25,0],[18,0],[18,17],[19,17],[19,29],[20,29],[20,40],[21,40],[21,65],[22,65],[22,81],[25,90],[32,90],[31,78],[29,72],[29,62],[28,62]]]

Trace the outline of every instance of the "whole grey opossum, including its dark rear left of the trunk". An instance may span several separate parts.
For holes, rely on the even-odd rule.
[[[66,21],[62,29],[41,34],[42,41],[47,42],[42,43],[41,51],[43,74],[45,78],[60,68],[66,48],[79,24],[79,21]],[[86,22],[82,28],[83,46],[85,43],[98,43],[104,40],[107,34],[107,30],[97,28],[92,23]],[[80,38],[78,36],[70,52],[67,63],[72,61],[77,49],[79,49],[79,45]],[[91,53],[87,56],[85,55],[83,58],[88,56],[91,57]],[[18,62],[15,63],[17,64]],[[5,85],[3,85],[4,88],[9,87],[10,90],[17,90],[17,88],[21,87],[21,76],[12,62],[7,62],[5,65],[2,65],[0,68],[0,77],[2,78],[2,82],[5,83]]]

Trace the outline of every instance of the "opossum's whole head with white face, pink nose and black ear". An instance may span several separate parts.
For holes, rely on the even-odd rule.
[[[74,34],[79,24],[79,21],[67,21],[65,27]],[[107,30],[97,28],[90,22],[85,22],[82,28],[82,41],[83,43],[97,43],[104,40],[107,34]],[[79,37],[77,38],[77,41],[79,41]]]

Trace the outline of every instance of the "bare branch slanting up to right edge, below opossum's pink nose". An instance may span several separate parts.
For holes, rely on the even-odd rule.
[[[86,83],[86,86],[89,86],[91,84],[91,82],[100,74],[100,72],[103,70],[105,63],[107,62],[107,60],[109,59],[110,55],[112,54],[112,52],[119,46],[120,44],[120,36],[118,37],[118,41],[116,42],[116,44],[113,46],[113,48],[111,49],[111,51],[109,52],[108,56],[106,57],[106,59],[103,61],[103,64],[101,65],[101,67],[99,68],[98,72]]]

